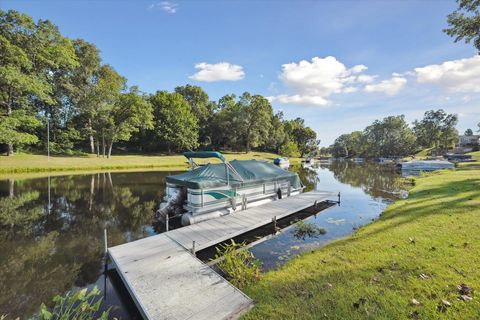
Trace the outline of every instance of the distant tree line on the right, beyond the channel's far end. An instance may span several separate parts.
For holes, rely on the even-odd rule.
[[[404,115],[375,120],[363,131],[343,134],[323,153],[334,157],[404,157],[422,149],[440,154],[453,148],[458,141],[456,114],[444,110],[425,112],[421,120],[411,126]]]

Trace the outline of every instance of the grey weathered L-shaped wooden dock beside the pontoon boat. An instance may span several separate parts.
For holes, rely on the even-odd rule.
[[[255,230],[332,193],[311,191],[108,249],[145,319],[235,319],[253,301],[192,252]],[[193,249],[193,250],[192,250]]]

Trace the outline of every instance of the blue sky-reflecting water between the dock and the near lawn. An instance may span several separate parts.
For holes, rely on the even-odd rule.
[[[342,202],[318,214],[304,214],[304,224],[325,232],[298,237],[298,228],[292,225],[251,248],[255,257],[262,261],[264,271],[276,268],[302,252],[351,234],[378,218],[392,200],[404,194],[400,175],[394,168],[379,164],[343,161],[321,165],[315,168],[314,174],[301,167],[293,170],[300,175],[315,177],[315,180],[302,180],[309,181],[308,189],[341,192]]]

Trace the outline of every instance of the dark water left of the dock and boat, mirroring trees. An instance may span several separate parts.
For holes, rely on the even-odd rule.
[[[0,310],[24,317],[95,283],[109,245],[152,234],[167,173],[101,173],[0,181]]]

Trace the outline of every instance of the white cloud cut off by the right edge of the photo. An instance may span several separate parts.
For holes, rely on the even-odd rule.
[[[480,56],[415,68],[418,83],[438,84],[452,92],[480,92]]]

